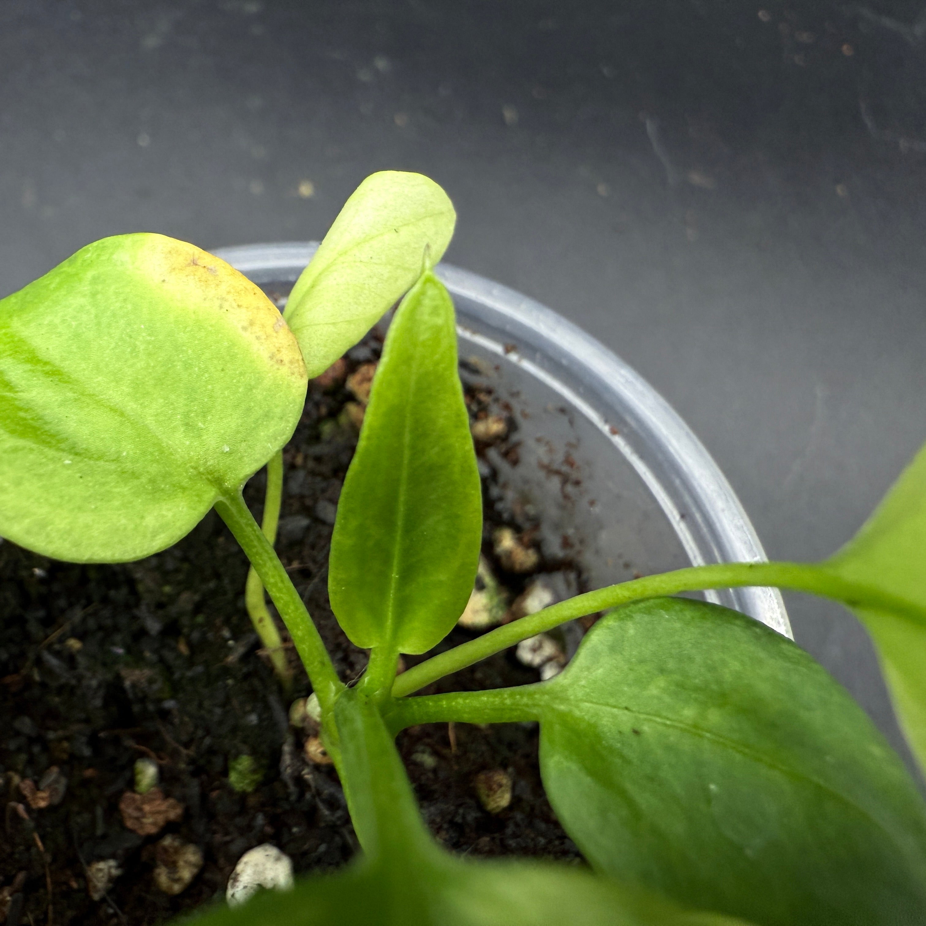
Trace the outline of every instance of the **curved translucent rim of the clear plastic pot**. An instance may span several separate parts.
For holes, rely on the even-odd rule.
[[[318,242],[242,244],[212,253],[254,282],[294,282],[318,246]],[[512,344],[499,343],[465,324],[457,325],[460,336],[527,369],[591,421],[644,481],[693,565],[766,560],[757,533],[720,467],[639,373],[578,325],[526,295],[451,264],[439,264],[437,274],[451,294],[468,300],[469,314],[504,331],[519,346],[512,349]],[[531,349],[521,349],[524,344]],[[619,409],[621,417],[631,422],[631,438],[636,440],[615,433],[602,407]],[[706,597],[794,639],[777,589],[718,590]]]

